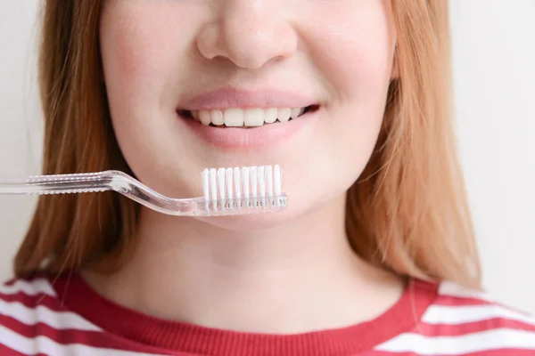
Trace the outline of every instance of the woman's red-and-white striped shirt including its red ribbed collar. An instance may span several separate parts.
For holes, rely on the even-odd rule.
[[[389,311],[291,336],[157,320],[97,295],[78,274],[0,287],[0,355],[535,355],[535,319],[456,284],[413,280]]]

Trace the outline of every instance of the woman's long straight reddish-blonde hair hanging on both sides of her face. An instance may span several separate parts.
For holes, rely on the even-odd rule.
[[[43,174],[119,169],[99,52],[102,0],[46,0],[40,51]],[[400,275],[481,283],[451,119],[445,0],[392,0],[396,66],[374,154],[348,192],[358,255]],[[120,268],[135,248],[136,203],[113,192],[40,197],[14,271]]]

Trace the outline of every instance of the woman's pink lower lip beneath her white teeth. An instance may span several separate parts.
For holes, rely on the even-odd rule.
[[[253,128],[214,127],[202,125],[201,122],[190,117],[181,115],[178,117],[203,142],[221,149],[236,150],[259,148],[284,142],[304,127],[317,121],[318,111],[319,109],[309,111],[285,123],[279,122]]]

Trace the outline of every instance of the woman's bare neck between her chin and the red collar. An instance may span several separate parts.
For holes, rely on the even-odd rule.
[[[86,279],[166,320],[277,334],[349,326],[384,312],[401,285],[353,253],[344,216],[339,198],[292,223],[229,231],[144,210],[132,260]]]

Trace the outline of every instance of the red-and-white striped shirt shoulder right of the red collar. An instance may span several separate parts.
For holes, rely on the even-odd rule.
[[[437,292],[415,328],[378,349],[417,355],[535,354],[535,318],[530,314],[449,281],[441,282]]]

